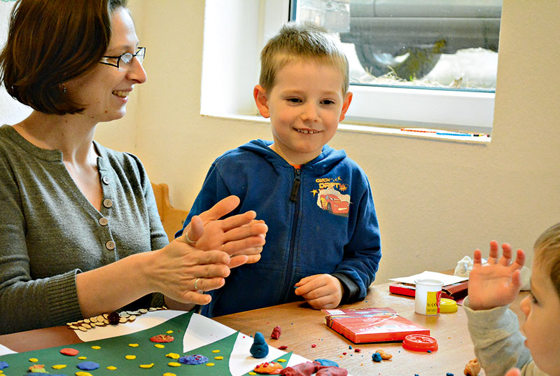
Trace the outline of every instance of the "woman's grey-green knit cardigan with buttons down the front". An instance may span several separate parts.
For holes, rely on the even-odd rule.
[[[77,273],[168,243],[140,160],[94,146],[101,211],[60,151],[0,127],[0,334],[81,319]]]

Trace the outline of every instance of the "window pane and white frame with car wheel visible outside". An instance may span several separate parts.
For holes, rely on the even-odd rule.
[[[338,34],[346,123],[490,133],[501,0],[292,0],[290,19]]]

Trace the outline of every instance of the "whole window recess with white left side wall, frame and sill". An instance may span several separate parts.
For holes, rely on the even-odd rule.
[[[459,13],[451,12],[455,12],[458,8],[445,10],[444,5],[446,4],[462,4],[462,7],[457,7],[461,8],[464,19],[460,17]],[[492,19],[491,22],[484,23],[474,17],[479,14],[477,9],[482,6],[480,4],[486,4],[486,11],[496,15],[496,17],[490,17],[490,15],[486,17],[489,20]],[[387,23],[400,22],[400,24],[391,24],[394,27],[392,32],[390,28],[385,31],[389,36],[393,36],[393,42],[398,36],[404,38],[420,34],[411,32],[410,29],[402,26],[410,23],[410,19],[414,18],[414,21],[419,23],[421,18],[433,20],[439,15],[440,18],[447,18],[446,22],[443,20],[440,23],[431,22],[439,29],[452,32],[453,43],[447,42],[444,49],[441,43],[442,38],[435,39],[436,42],[440,42],[437,43],[440,48],[439,53],[427,59],[433,64],[433,67],[428,69],[429,64],[425,64],[426,67],[422,69],[411,70],[414,68],[414,64],[411,62],[414,59],[417,61],[421,57],[421,53],[417,51],[418,46],[426,50],[428,48],[426,43],[416,40],[416,45],[414,45],[416,50],[412,47],[409,47],[408,50],[402,48],[405,42],[395,45],[401,46],[400,50],[398,48],[389,50],[386,46],[384,49],[378,50],[372,48],[367,39],[368,34],[379,35],[377,26],[360,26],[358,29],[365,31],[351,32],[353,25],[357,22],[354,20],[353,14],[365,16],[367,15],[366,9],[370,9],[370,13],[372,12],[372,6],[377,7],[373,8],[374,15],[379,16],[381,26],[385,25],[384,27],[388,28]],[[405,11],[410,14],[407,15]],[[253,86],[258,83],[260,50],[268,39],[276,34],[283,22],[294,18],[311,18],[316,22],[323,22],[323,26],[327,28],[330,25],[330,29],[341,36],[344,46],[346,46],[345,52],[349,56],[349,60],[354,63],[351,68],[353,101],[346,120],[339,126],[340,130],[420,135],[419,132],[403,133],[400,130],[406,127],[490,134],[497,64],[497,53],[494,50],[498,45],[496,33],[499,30],[500,11],[501,0],[207,1],[204,19],[201,113],[206,116],[266,122],[267,120],[258,116],[251,95]],[[405,20],[398,20],[398,12]],[[412,12],[416,12],[414,17]],[[469,39],[467,36],[471,32],[465,31],[465,28],[472,29],[475,24],[481,28],[479,32],[485,33],[484,37],[471,36]],[[435,33],[433,29],[426,30]],[[462,37],[458,36],[460,32],[464,34]],[[493,37],[490,38],[489,34],[492,34]],[[352,38],[353,41],[351,41]],[[386,43],[390,39],[387,38]],[[469,40],[478,41],[475,44],[486,41],[489,47],[466,47],[465,44],[469,44],[467,43]],[[490,43],[490,41],[492,42]],[[359,54],[363,55],[361,61],[356,44],[360,46],[358,47]],[[435,46],[434,43],[432,44]],[[433,50],[432,45],[430,48]],[[438,69],[451,64],[449,61],[454,56],[451,51],[455,48],[457,50],[455,56],[464,56],[470,50],[486,56],[487,64],[484,70],[487,69],[489,72],[487,76],[491,76],[491,83],[488,84],[485,81],[484,85],[479,85],[479,80],[475,80],[472,76],[456,74],[450,76],[452,79],[448,78],[447,81],[435,83],[434,77]],[[483,48],[484,50],[482,50]],[[371,53],[371,57],[368,59],[372,64],[368,64],[364,57],[368,51]],[[372,51],[375,51],[375,55]],[[405,52],[402,53],[402,51]],[[386,61],[389,61],[390,64],[386,64],[385,69],[391,73],[385,74],[382,78],[384,82],[374,82],[372,73],[376,69],[380,69],[379,67],[382,69],[381,64]],[[466,68],[456,68],[456,71],[460,73],[467,70],[482,71],[478,64],[470,63],[472,60],[467,61],[469,64],[466,65]],[[407,64],[397,67],[395,62],[407,62],[411,67],[406,74],[403,74],[403,67]],[[393,70],[395,73],[392,73]],[[402,76],[400,79],[393,79],[391,83],[388,83],[392,75],[394,78],[399,74]],[[450,83],[453,84],[449,85]],[[476,85],[472,85],[472,83],[476,83]],[[216,90],[216,88],[220,88],[220,90]],[[442,137],[437,135],[437,137],[448,138],[446,135],[442,135]],[[476,141],[488,140],[489,138],[486,137],[476,139]]]

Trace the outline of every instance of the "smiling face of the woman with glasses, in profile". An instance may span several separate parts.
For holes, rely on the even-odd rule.
[[[112,36],[106,56],[136,53],[138,37],[130,13],[125,8],[116,8],[111,17]],[[85,106],[83,116],[94,123],[122,118],[134,84],[146,82],[146,71],[134,58],[130,65],[120,67],[97,64],[83,76],[66,83],[66,94],[74,102]]]

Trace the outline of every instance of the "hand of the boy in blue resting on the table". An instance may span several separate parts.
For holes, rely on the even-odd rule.
[[[342,300],[342,284],[330,274],[310,275],[295,286],[295,295],[302,296],[314,309],[335,308]]]

